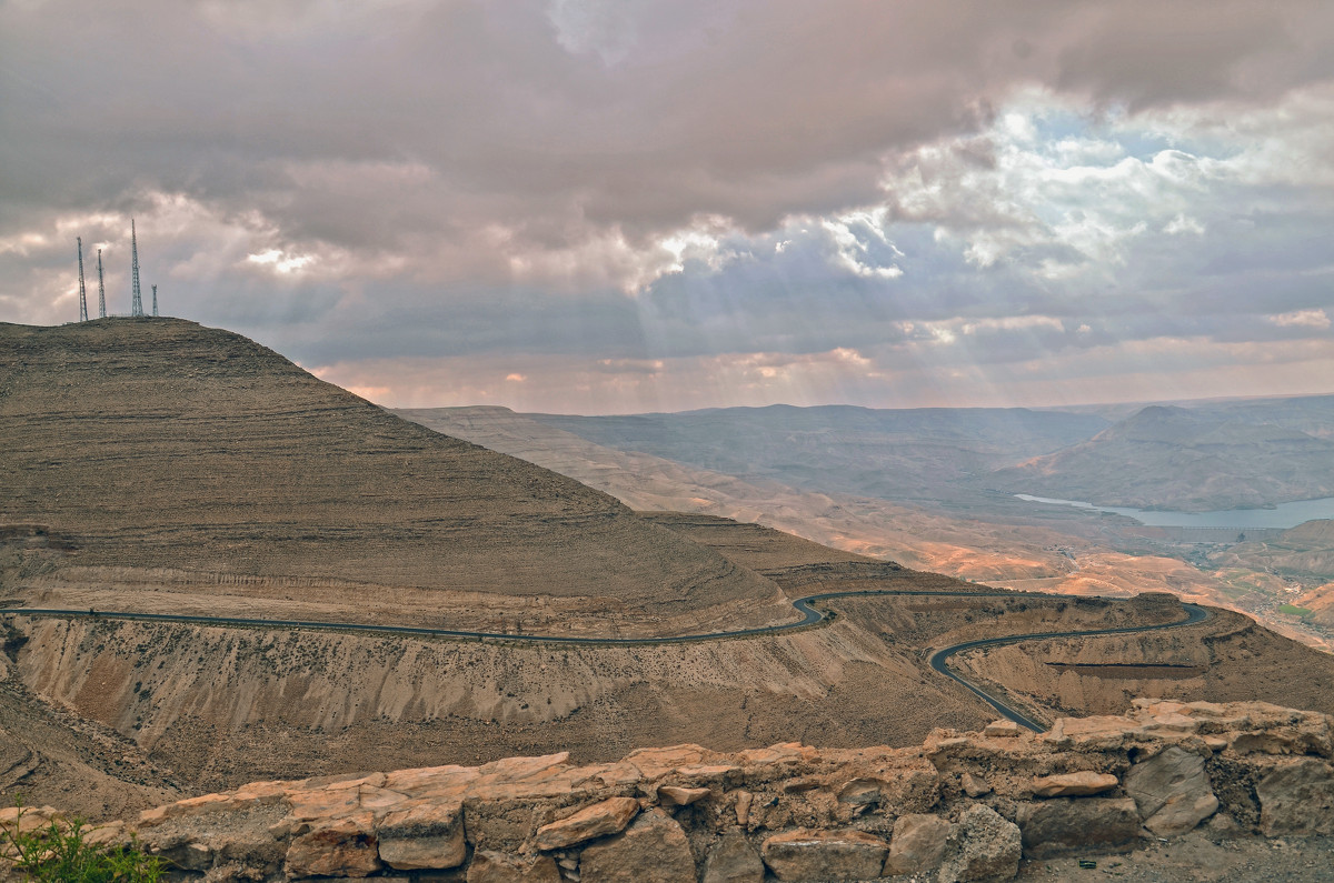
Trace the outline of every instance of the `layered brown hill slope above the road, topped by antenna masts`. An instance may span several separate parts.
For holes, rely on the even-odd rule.
[[[554,628],[584,607],[790,616],[772,583],[606,494],[188,321],[0,325],[0,523],[48,540],[8,590],[48,603],[152,607],[153,586],[168,610],[227,595],[315,618],[496,595],[554,599]],[[137,595],[88,595],[109,583]]]

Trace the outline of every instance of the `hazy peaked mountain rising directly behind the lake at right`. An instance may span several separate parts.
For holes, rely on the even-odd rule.
[[[1103,506],[1209,511],[1334,495],[1334,440],[1151,405],[986,484]]]

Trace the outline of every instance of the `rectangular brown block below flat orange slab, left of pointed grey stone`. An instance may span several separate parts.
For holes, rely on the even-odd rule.
[[[1130,798],[1057,798],[1019,807],[1023,854],[1046,859],[1097,852],[1139,840],[1139,810]]]

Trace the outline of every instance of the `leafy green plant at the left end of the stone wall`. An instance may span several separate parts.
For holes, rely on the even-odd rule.
[[[24,831],[24,808],[12,824],[0,824],[0,848],[15,870],[29,880],[60,883],[155,883],[161,878],[161,859],[144,855],[137,843],[129,847],[99,847],[84,839],[84,820],[47,823]]]

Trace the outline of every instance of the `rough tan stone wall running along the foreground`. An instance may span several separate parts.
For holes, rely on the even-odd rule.
[[[257,782],[92,836],[133,834],[207,880],[1010,879],[1021,856],[1125,851],[1215,814],[1265,836],[1334,834],[1331,742],[1318,712],[1137,700],[1042,735],[996,722],[911,748],[676,746]]]

